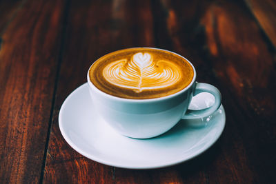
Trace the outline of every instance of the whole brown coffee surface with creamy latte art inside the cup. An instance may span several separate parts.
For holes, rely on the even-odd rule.
[[[193,80],[192,65],[183,57],[154,48],[111,52],[92,64],[96,88],[124,99],[154,99],[174,94]]]

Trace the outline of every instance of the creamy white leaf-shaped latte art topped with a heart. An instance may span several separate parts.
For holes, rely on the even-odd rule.
[[[113,85],[139,93],[177,83],[181,78],[181,71],[170,61],[154,61],[151,54],[138,52],[129,61],[120,59],[106,65],[103,77]]]

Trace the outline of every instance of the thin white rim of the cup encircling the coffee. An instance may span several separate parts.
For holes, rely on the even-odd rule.
[[[135,103],[145,103],[145,102],[152,102],[152,101],[164,101],[164,100],[167,100],[167,99],[170,99],[174,96],[178,96],[179,94],[183,93],[183,92],[186,92],[186,90],[190,89],[190,87],[195,83],[195,79],[197,77],[197,72],[195,71],[195,67],[194,65],[188,60],[186,59],[186,57],[183,57],[181,56],[180,54],[177,54],[175,52],[172,52],[170,50],[165,50],[165,49],[161,49],[161,48],[150,48],[150,47],[136,47],[136,48],[124,48],[124,49],[121,49],[121,50],[127,50],[127,49],[139,49],[139,48],[148,48],[148,49],[155,49],[155,50],[164,50],[166,52],[170,52],[172,54],[176,54],[177,56],[185,59],[186,61],[188,61],[188,63],[190,63],[190,65],[192,66],[193,68],[193,72],[194,72],[194,76],[193,76],[193,79],[192,81],[190,81],[190,83],[186,86],[186,88],[180,90],[179,92],[175,92],[174,94],[169,94],[167,96],[161,96],[161,97],[157,97],[157,98],[153,98],[153,99],[125,99],[125,98],[121,98],[121,97],[118,97],[118,96],[112,96],[111,94],[107,94],[106,92],[103,92],[101,90],[99,90],[90,80],[90,76],[89,76],[89,71],[90,71],[90,68],[92,67],[92,65],[97,62],[99,59],[97,59],[96,61],[94,61],[92,63],[92,65],[90,65],[90,68],[88,69],[88,73],[87,73],[87,81],[88,81],[88,84],[91,88],[93,88],[95,90],[95,92],[97,92],[98,94],[101,94],[103,96],[106,96],[107,98],[109,99],[112,99],[112,100],[117,100],[117,101],[124,101],[124,102],[135,102]],[[115,50],[113,52],[117,52],[117,51],[120,51],[120,50]],[[110,54],[112,52],[109,52],[108,54]],[[101,58],[101,57],[100,57]]]

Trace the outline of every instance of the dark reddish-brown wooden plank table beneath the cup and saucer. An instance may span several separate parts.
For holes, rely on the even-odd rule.
[[[1,1],[0,183],[276,183],[276,2]],[[73,150],[58,115],[93,61],[164,48],[221,91],[226,128],[195,159],[155,170]]]

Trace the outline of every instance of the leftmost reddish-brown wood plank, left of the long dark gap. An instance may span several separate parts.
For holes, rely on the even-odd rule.
[[[1,34],[1,183],[39,183],[57,73],[63,4],[62,0],[26,1]]]

